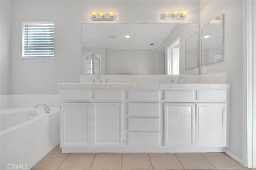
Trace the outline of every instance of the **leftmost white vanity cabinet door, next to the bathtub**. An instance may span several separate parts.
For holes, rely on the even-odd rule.
[[[91,106],[86,103],[62,104],[62,147],[91,146]]]

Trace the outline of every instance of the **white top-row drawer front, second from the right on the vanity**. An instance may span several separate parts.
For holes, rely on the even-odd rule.
[[[192,101],[192,90],[164,90],[164,100],[166,101]]]

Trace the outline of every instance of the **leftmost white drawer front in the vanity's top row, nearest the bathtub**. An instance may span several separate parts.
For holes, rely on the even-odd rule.
[[[90,100],[90,90],[62,90],[60,100]]]

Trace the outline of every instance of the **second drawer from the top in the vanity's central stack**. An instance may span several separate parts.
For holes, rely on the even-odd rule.
[[[158,116],[159,103],[128,103],[127,115],[132,116]]]

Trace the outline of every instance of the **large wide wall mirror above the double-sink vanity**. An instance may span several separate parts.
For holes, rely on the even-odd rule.
[[[198,31],[197,23],[82,23],[82,74],[95,74],[95,64],[99,74],[197,74],[198,53],[187,67],[185,42],[198,47]]]

